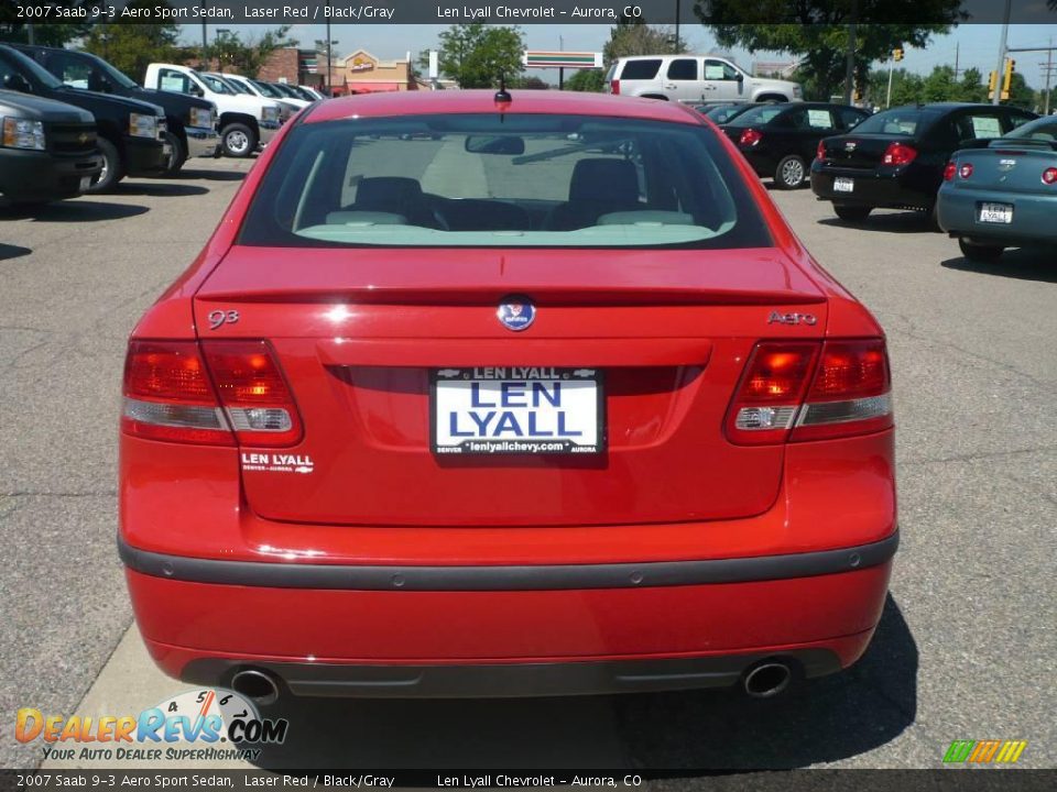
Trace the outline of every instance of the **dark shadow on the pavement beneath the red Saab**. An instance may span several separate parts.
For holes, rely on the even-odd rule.
[[[795,614],[791,614],[795,618]],[[399,627],[395,627],[399,629]],[[798,768],[878,748],[915,719],[917,647],[889,596],[852,669],[776,698],[738,690],[505,700],[291,698],[265,769]]]

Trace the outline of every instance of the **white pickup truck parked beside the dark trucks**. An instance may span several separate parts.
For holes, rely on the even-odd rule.
[[[220,144],[228,156],[249,156],[268,143],[280,127],[279,102],[239,94],[224,80],[189,66],[151,64],[146,67],[143,87],[189,94],[216,105]]]

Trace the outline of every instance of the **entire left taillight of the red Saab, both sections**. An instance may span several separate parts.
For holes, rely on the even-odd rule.
[[[265,341],[132,341],[121,428],[170,442],[293,446],[302,421]]]

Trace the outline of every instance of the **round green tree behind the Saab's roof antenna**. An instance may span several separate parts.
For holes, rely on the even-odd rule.
[[[500,75],[516,85],[524,70],[524,50],[520,28],[451,25],[440,34],[437,61],[440,74],[458,82],[459,88],[492,88]]]

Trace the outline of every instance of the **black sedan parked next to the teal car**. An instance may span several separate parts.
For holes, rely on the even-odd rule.
[[[931,215],[944,168],[959,148],[988,143],[1037,118],[1014,107],[942,102],[892,108],[852,134],[827,138],[811,163],[811,189],[837,217],[861,221],[875,208]]]

